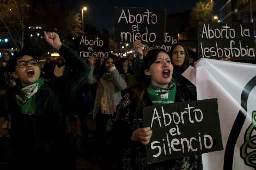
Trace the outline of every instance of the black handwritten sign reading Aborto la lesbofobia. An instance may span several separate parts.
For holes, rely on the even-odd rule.
[[[254,60],[253,23],[199,23],[198,59]]]

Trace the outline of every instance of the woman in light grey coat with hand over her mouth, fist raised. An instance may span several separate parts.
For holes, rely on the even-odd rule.
[[[96,140],[101,157],[106,164],[111,164],[111,151],[108,151],[106,145],[106,123],[112,118],[115,107],[122,98],[121,92],[127,88],[127,83],[115,67],[114,55],[109,54],[108,58],[104,59],[99,72],[93,76],[94,60],[93,56],[88,58],[91,71],[85,83],[97,84],[93,108],[93,119],[96,118]]]

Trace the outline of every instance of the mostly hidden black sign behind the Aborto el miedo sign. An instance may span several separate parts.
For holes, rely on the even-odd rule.
[[[170,49],[173,44],[178,42],[178,31],[169,31],[164,34],[164,44],[163,45],[155,45],[155,44],[146,44],[146,47],[149,49],[164,49],[167,52],[170,52]]]

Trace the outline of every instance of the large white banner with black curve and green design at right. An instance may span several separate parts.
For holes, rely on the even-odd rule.
[[[218,99],[224,147],[202,155],[203,170],[254,170],[256,65],[201,58],[195,67],[197,99]]]

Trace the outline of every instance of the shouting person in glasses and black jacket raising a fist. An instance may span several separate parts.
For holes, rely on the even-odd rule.
[[[75,51],[62,44],[55,32],[44,32],[72,71],[44,81],[34,51],[22,49],[14,56],[10,71],[17,79],[10,88],[11,152],[9,170],[75,170],[75,157],[62,106],[74,98],[89,73]]]

